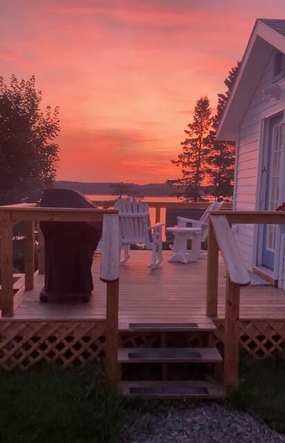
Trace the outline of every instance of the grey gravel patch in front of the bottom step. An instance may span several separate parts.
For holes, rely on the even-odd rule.
[[[214,403],[159,415],[132,412],[123,437],[126,443],[285,442],[285,435],[250,415]]]

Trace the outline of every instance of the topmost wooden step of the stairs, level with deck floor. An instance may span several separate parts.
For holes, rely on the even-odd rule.
[[[129,331],[144,332],[182,332],[182,331],[215,331],[217,327],[210,318],[189,323],[129,323]]]

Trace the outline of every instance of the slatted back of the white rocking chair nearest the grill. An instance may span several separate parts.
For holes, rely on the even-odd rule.
[[[151,242],[151,235],[147,228],[150,226],[149,206],[136,197],[120,198],[114,208],[119,210],[122,243]]]

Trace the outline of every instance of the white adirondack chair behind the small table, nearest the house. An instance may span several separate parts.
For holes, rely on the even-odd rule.
[[[223,201],[214,201],[214,203],[210,204],[208,208],[203,213],[201,219],[194,220],[194,219],[187,219],[185,217],[177,217],[177,226],[181,228],[185,228],[187,226],[190,226],[192,228],[201,228],[200,233],[193,233],[191,237],[191,252],[197,259],[202,257],[207,257],[207,254],[205,251],[201,250],[201,243],[205,242],[205,239],[208,236],[208,224],[209,224],[209,217],[210,217],[210,211],[211,210],[219,210],[221,209],[221,206],[223,205]],[[170,246],[172,248],[173,245]]]

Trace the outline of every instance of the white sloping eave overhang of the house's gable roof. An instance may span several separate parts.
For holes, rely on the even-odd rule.
[[[237,138],[239,125],[273,48],[285,53],[285,19],[257,19],[217,129],[218,140],[235,141]]]

